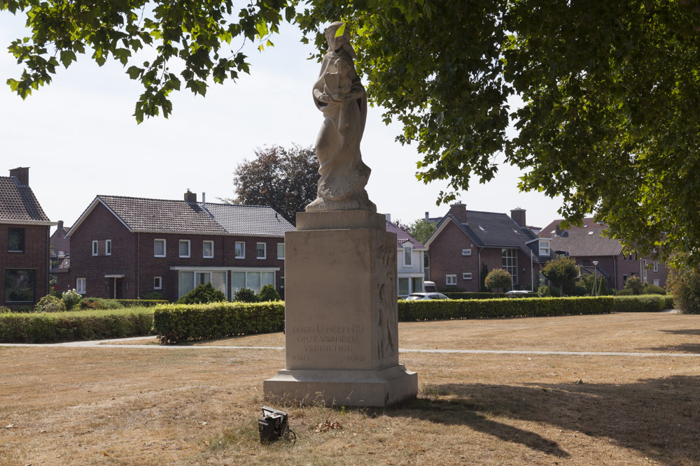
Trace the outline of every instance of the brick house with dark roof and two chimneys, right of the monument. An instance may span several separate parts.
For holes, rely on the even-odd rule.
[[[514,289],[537,286],[542,265],[551,259],[549,238],[540,238],[525,225],[525,210],[507,214],[466,210],[450,205],[437,223],[426,246],[430,254],[430,279],[437,289],[479,291],[482,264],[489,272],[510,272]]]

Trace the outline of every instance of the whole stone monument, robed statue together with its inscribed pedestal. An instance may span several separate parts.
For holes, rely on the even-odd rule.
[[[325,405],[392,405],[414,398],[418,375],[398,363],[396,235],[367,197],[360,154],[367,96],[342,23],[314,85],[318,197],[285,234],[285,368],[267,398]]]

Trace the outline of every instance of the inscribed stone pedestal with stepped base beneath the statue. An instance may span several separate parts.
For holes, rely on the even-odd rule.
[[[398,364],[396,236],[384,217],[297,213],[285,253],[285,369],[265,380],[265,396],[379,407],[414,398],[418,375]]]

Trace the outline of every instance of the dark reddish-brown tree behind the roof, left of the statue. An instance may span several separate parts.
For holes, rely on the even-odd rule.
[[[311,147],[279,145],[255,150],[255,159],[244,160],[234,171],[237,198],[222,201],[269,205],[290,224],[316,198],[318,159]]]

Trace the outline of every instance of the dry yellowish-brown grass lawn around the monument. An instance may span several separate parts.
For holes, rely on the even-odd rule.
[[[400,346],[688,352],[699,337],[700,316],[614,314],[405,323]],[[402,354],[417,400],[283,407],[298,439],[271,446],[256,418],[283,351],[0,347],[0,358],[2,465],[700,463],[700,357]],[[342,430],[316,432],[325,421]]]

